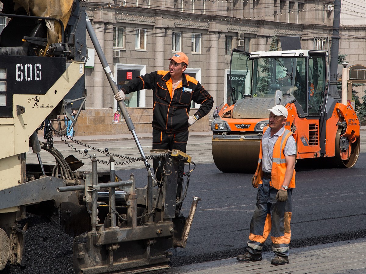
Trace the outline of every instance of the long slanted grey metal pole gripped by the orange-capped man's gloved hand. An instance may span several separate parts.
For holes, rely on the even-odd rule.
[[[117,87],[117,83],[113,77],[113,74],[112,74],[112,71],[111,71],[111,68],[109,68],[109,65],[108,65],[108,62],[107,62],[107,59],[105,58],[105,55],[103,53],[103,50],[100,46],[100,43],[98,41],[98,38],[97,38],[97,35],[95,34],[94,30],[93,30],[93,26],[91,26],[91,23],[90,23],[90,19],[88,16],[86,16],[86,30],[88,31],[89,33],[89,37],[91,39],[91,42],[93,43],[94,45],[94,49],[95,51],[97,52],[97,55],[99,57],[99,60],[102,64],[102,67],[103,67],[103,70],[104,70],[104,73],[105,75],[107,76],[107,79],[108,79],[108,82],[109,84],[111,85],[111,88],[112,88],[112,91],[113,91],[113,94],[116,95],[118,93],[118,87]],[[138,140],[137,138],[137,135],[135,133],[135,126],[134,124],[132,123],[132,120],[131,120],[131,117],[130,117],[130,114],[128,114],[128,111],[127,111],[127,108],[126,108],[126,105],[124,104],[123,100],[122,101],[118,101],[118,106],[120,107],[121,109],[121,112],[122,112],[122,115],[123,115],[123,118],[124,120],[126,121],[126,124],[127,124],[127,127],[128,127],[128,130],[130,130],[130,132],[132,133],[132,136],[134,137],[134,140],[136,142],[136,145],[137,145],[137,148],[138,148],[138,151],[140,152],[140,155],[141,157],[145,158],[145,153],[143,152],[143,149],[142,149],[142,146],[140,144],[140,141]],[[147,163],[147,160],[144,159],[143,162],[145,163],[145,167],[147,169],[147,171],[151,170],[150,169],[150,166],[148,165]],[[152,172],[153,173],[153,172]]]

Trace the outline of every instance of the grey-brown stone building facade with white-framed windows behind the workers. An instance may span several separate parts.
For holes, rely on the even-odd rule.
[[[347,54],[350,63],[366,65],[366,24],[362,23],[365,14],[361,6],[354,10],[357,4],[352,6],[350,1],[342,3],[341,14],[347,20],[341,20],[339,52]],[[81,3],[118,84],[152,71],[168,70],[168,58],[182,51],[189,57],[186,72],[210,92],[214,107],[227,102],[232,48],[248,52],[269,50],[276,35],[279,49],[281,36],[300,36],[304,49],[330,52],[334,4],[329,0],[85,0]],[[0,21],[0,29],[4,23]],[[86,110],[75,126],[76,134],[127,133],[123,119],[112,122],[117,103],[90,40],[87,47],[90,62],[85,69]],[[125,103],[136,132],[152,132],[152,91],[134,92]],[[191,112],[197,107],[193,104]],[[190,130],[209,131],[211,118],[212,112]]]

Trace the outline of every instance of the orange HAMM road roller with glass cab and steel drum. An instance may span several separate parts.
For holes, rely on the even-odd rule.
[[[350,103],[329,94],[328,52],[233,49],[227,102],[211,123],[212,155],[223,172],[252,173],[263,129],[276,104],[288,110],[285,128],[296,138],[296,159],[321,167],[353,167],[360,150],[360,122]]]

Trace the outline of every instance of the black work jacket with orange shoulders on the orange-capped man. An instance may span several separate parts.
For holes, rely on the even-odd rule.
[[[152,127],[164,132],[182,132],[188,129],[191,102],[201,104],[195,112],[202,118],[212,109],[213,98],[194,77],[183,73],[182,84],[174,93],[169,71],[154,71],[136,77],[122,85],[125,94],[134,91],[153,90],[153,122]]]

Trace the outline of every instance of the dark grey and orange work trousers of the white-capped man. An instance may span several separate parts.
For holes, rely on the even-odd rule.
[[[258,185],[257,203],[250,222],[250,234],[247,251],[251,254],[262,253],[264,242],[269,233],[272,250],[279,256],[288,256],[291,240],[291,194],[287,190],[287,200],[277,202],[277,189],[270,187],[270,174],[263,176],[263,183]]]

